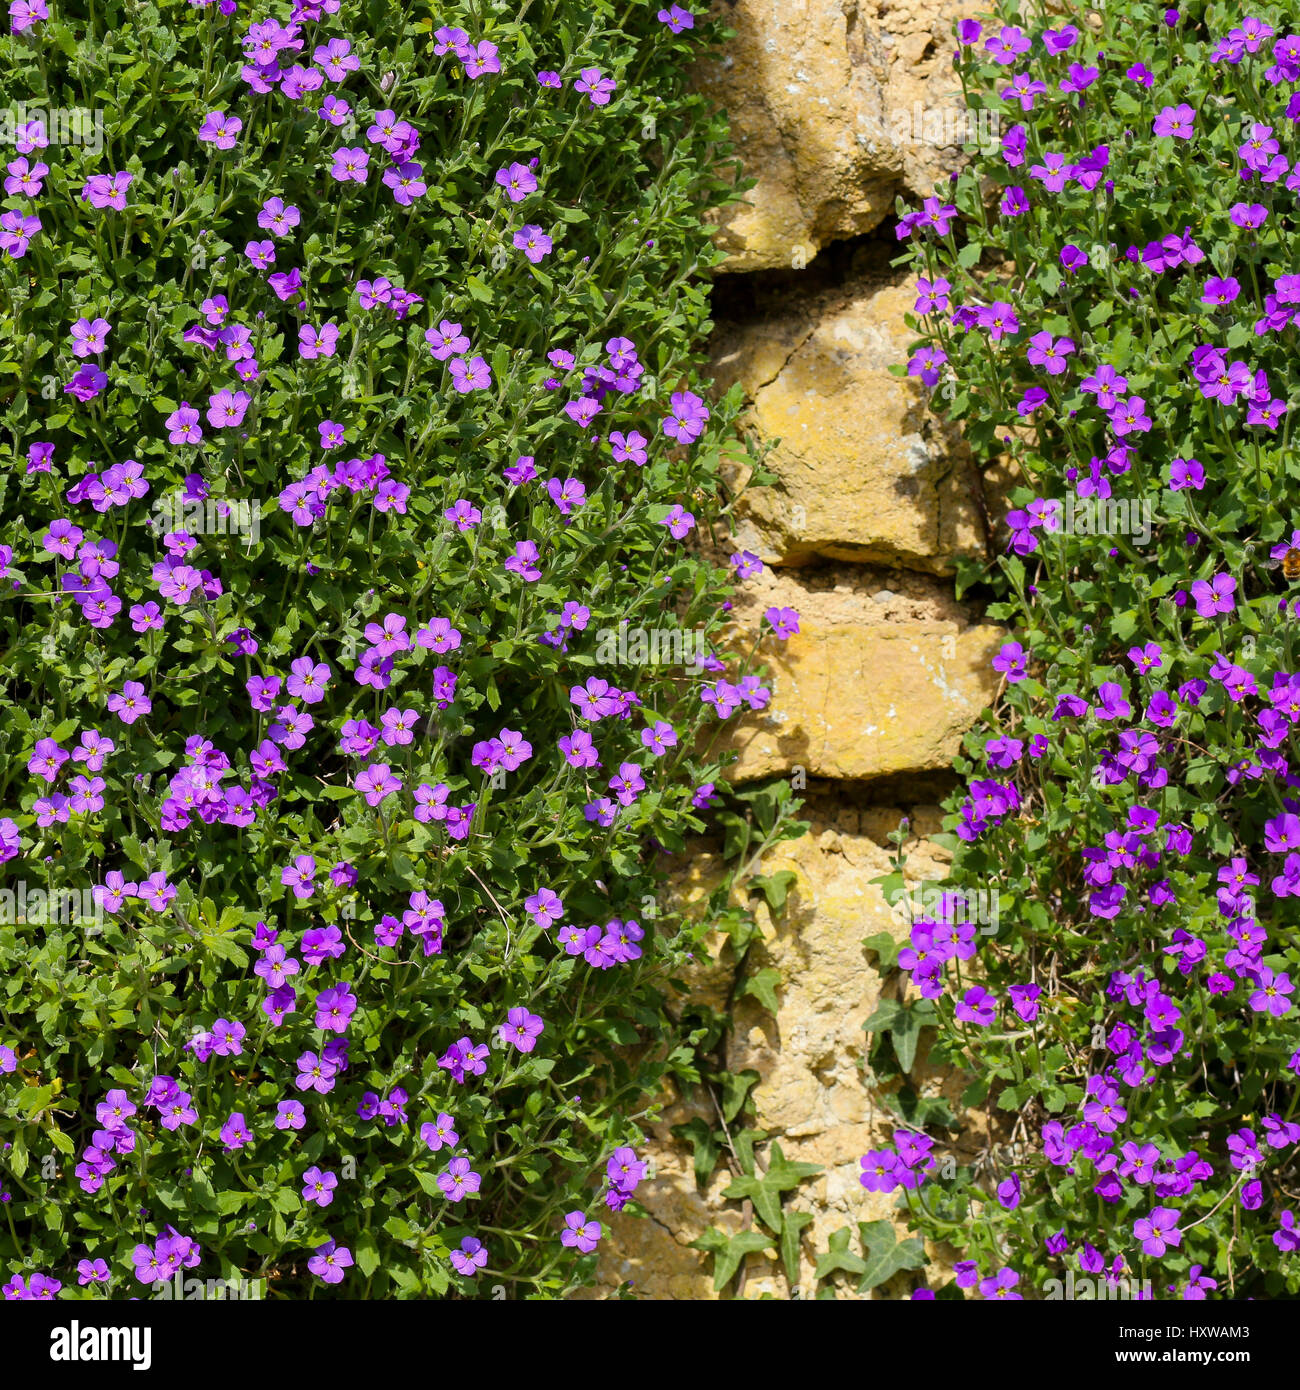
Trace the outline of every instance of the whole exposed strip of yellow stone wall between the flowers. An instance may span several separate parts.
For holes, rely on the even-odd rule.
[[[887,835],[904,816],[909,872],[943,877],[947,853],[927,840],[936,802],[993,694],[1000,635],[954,599],[951,574],[957,556],[987,545],[984,495],[997,480],[937,428],[916,384],[888,371],[908,354],[913,299],[890,265],[895,197],[929,195],[959,157],[951,24],[976,8],[717,0],[736,38],[699,72],[758,179],[719,225],[729,259],[715,286],[715,375],[719,389],[741,382],[749,428],[780,441],[767,457],[777,484],[737,516],[734,545],[766,566],[737,617],[754,631],[773,603],[801,614],[801,632],[772,653],[770,709],[736,738],[733,777],[806,780],[812,823],[763,865],[795,874],[781,916],[759,909],[763,940],[748,962],[780,970],[776,1016],[740,998],[726,1049],[731,1070],[761,1076],[759,1127],[787,1158],[824,1169],[788,1198],[812,1215],[804,1293],[833,1232],[893,1213],[893,1197],[858,1183],[859,1156],[897,1123],[865,1065],[862,1023],[881,981],[862,940],[905,934],[870,880],[888,872]],[[679,867],[677,899],[701,903],[720,873],[716,847],[701,845]],[[730,948],[719,948],[695,988],[722,1008],[733,976]],[[952,1084],[922,1076],[934,1093]],[[666,1101],[638,1193],[649,1218],[606,1222],[605,1294],[630,1280],[642,1297],[716,1297],[708,1257],[688,1243],[752,1220],[720,1195],[731,1173],[719,1166],[701,1190],[690,1147],[670,1134],[694,1115],[715,1125],[708,1097]],[[742,1293],[791,1295],[766,1254],[749,1257]]]

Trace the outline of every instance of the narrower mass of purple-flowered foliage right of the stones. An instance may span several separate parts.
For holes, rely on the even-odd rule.
[[[951,806],[954,897],[897,958],[932,1055],[1007,1125],[977,1170],[937,1126],[863,1158],[957,1248],[941,1297],[1300,1290],[1292,19],[961,24],[1000,142],[901,220],[908,371],[1021,480],[997,566],[965,574],[1012,639]],[[909,1013],[881,1037],[913,1040]]]

